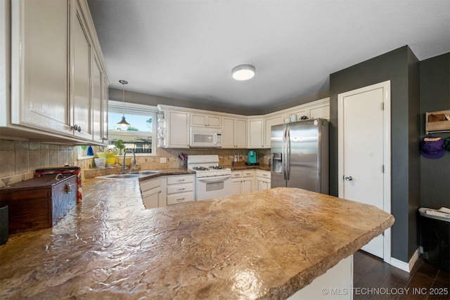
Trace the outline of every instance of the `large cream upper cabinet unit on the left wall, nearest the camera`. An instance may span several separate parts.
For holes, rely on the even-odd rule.
[[[104,143],[109,78],[86,0],[2,1],[0,13],[11,17],[0,23],[0,54],[11,58],[1,135]]]

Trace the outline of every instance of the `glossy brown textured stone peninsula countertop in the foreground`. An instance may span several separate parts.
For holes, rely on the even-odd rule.
[[[53,228],[0,246],[0,299],[285,299],[394,223],[295,188],[155,209],[136,178],[83,191]]]

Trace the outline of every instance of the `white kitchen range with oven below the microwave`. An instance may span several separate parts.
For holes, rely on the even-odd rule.
[[[189,155],[195,171],[195,201],[231,196],[231,169],[219,167],[219,155]]]

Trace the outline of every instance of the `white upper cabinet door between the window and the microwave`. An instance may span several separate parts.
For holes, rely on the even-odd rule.
[[[167,111],[167,148],[189,148],[189,113]]]

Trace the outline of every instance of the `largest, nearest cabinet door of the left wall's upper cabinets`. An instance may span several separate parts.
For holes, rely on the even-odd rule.
[[[68,1],[10,3],[11,123],[71,135]]]

